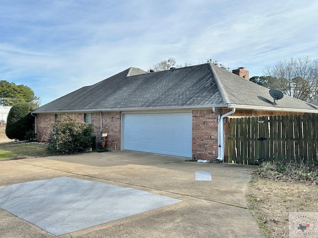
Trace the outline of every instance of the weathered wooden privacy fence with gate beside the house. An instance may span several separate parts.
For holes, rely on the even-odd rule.
[[[230,118],[225,128],[225,162],[317,162],[318,115]]]

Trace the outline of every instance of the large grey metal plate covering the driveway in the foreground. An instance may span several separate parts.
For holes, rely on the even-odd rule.
[[[60,236],[180,202],[125,188],[61,177],[0,187],[0,208]]]

